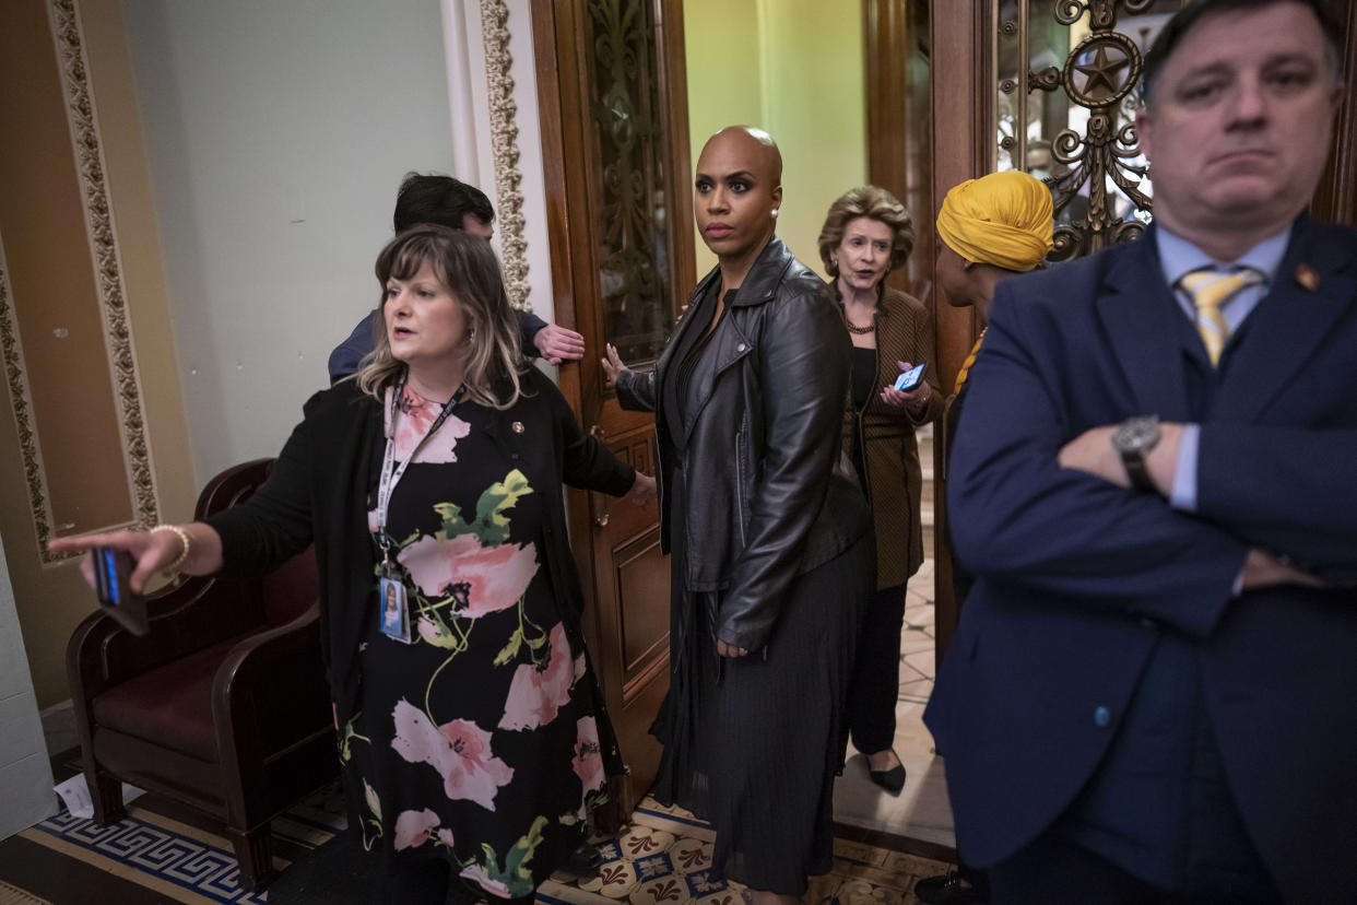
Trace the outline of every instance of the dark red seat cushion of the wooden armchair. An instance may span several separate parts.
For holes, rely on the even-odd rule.
[[[99,726],[218,763],[212,681],[240,635],[122,682],[94,699]]]

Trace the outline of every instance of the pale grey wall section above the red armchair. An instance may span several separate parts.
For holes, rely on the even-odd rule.
[[[438,0],[123,4],[201,486],[275,455],[327,385],[400,178],[460,175],[442,20]]]

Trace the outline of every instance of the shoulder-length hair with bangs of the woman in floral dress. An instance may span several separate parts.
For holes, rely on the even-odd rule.
[[[385,388],[406,373],[406,364],[391,354],[387,336],[387,281],[411,280],[425,265],[461,305],[467,322],[467,365],[461,381],[467,396],[483,406],[509,408],[524,396],[520,374],[527,362],[499,262],[480,236],[436,224],[407,229],[377,255],[381,304],[373,319],[373,350],[354,376],[358,388],[380,400]]]

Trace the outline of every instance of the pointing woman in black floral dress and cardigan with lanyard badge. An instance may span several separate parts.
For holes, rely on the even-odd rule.
[[[531,898],[620,768],[589,669],[562,484],[654,495],[525,368],[476,236],[402,233],[384,331],[269,482],[208,522],[69,539],[159,570],[267,571],[315,541],[350,828],[392,902]]]

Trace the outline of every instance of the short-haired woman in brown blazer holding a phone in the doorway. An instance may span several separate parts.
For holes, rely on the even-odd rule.
[[[943,403],[928,368],[912,389],[894,388],[904,370],[932,358],[928,309],[885,285],[913,243],[909,212],[875,186],[852,189],[835,201],[820,232],[820,256],[854,346],[843,445],[858,468],[877,531],[877,594],[863,620],[848,727],[854,746],[867,756],[868,776],[892,794],[905,784],[905,768],[892,746],[905,581],[924,559],[915,429],[936,419]]]

